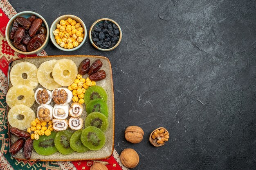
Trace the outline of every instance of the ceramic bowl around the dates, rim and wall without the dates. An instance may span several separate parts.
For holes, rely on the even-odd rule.
[[[30,17],[31,15],[36,15],[36,17],[38,18],[41,18],[43,20],[43,26],[45,26],[46,28],[46,38],[45,38],[45,42],[43,43],[42,46],[40,46],[38,49],[34,50],[34,51],[29,51],[29,52],[23,52],[23,51],[20,51],[18,50],[17,48],[15,48],[12,43],[11,43],[11,39],[9,38],[9,34],[11,33],[11,28],[12,28],[12,25],[13,25],[13,20],[16,18],[16,17],[25,17],[25,18],[28,18]],[[11,20],[9,20],[7,26],[6,26],[6,30],[5,30],[5,37],[6,37],[6,40],[7,40],[7,43],[9,44],[9,46],[16,52],[19,52],[21,54],[25,54],[25,55],[29,55],[29,54],[35,54],[37,52],[41,52],[43,51],[43,49],[45,49],[45,47],[47,46],[48,42],[49,42],[49,26],[46,22],[46,20],[41,16],[39,15],[38,13],[35,13],[33,11],[23,11],[23,12],[20,12],[20,13],[17,13],[16,15],[14,15]]]

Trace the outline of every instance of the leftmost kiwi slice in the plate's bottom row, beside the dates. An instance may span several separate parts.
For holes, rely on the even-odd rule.
[[[38,140],[34,140],[33,147],[34,150],[40,155],[52,155],[58,152],[57,148],[54,146],[54,138],[56,132],[51,132],[51,135],[40,136]]]

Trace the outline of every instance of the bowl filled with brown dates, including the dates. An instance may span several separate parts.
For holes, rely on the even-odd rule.
[[[5,37],[11,48],[21,54],[42,51],[49,42],[49,26],[38,13],[23,11],[9,20]]]

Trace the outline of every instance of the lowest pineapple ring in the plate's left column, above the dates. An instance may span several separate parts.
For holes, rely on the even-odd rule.
[[[17,116],[23,115],[23,120],[18,120]],[[32,109],[25,105],[15,105],[8,112],[8,122],[11,126],[20,130],[30,127],[30,122],[35,120],[36,115]]]

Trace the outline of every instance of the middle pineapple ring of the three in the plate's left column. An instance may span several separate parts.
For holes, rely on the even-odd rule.
[[[35,102],[34,95],[35,92],[31,87],[27,85],[16,85],[8,90],[6,95],[6,102],[9,107],[13,107],[19,104],[31,107]],[[23,96],[23,98],[19,100],[19,96]]]

